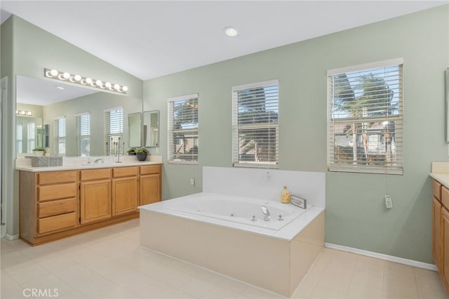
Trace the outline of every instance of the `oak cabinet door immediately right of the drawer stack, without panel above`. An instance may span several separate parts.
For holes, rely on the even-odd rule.
[[[111,180],[81,182],[81,224],[111,218]]]

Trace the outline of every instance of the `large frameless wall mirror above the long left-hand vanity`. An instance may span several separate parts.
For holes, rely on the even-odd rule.
[[[142,113],[141,99],[54,80],[20,75],[16,80],[17,109],[30,111],[33,117],[41,119],[39,131],[36,120],[35,136],[39,136],[41,142],[48,140],[51,155],[104,156],[110,154],[108,140],[112,137],[121,136],[121,140],[125,141],[125,151],[129,147],[128,142],[133,142],[134,138],[128,135],[130,129],[127,116]],[[28,121],[30,119],[24,118]],[[63,119],[63,122],[58,122],[58,119]],[[90,126],[83,126],[86,119]],[[26,124],[17,117],[17,124],[20,123]],[[22,131],[25,126],[27,125],[22,125]],[[65,127],[65,134],[57,137],[58,128],[62,126]],[[138,135],[140,136],[140,133]],[[141,137],[137,138],[139,139],[141,140]],[[25,140],[28,141],[28,137],[22,132],[22,147],[18,146],[18,149],[22,148],[22,152],[26,152],[23,150],[25,148],[37,147],[37,139],[34,141],[34,147],[25,147]],[[20,138],[17,138],[16,142],[19,144]]]

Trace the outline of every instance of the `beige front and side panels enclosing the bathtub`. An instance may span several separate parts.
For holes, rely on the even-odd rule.
[[[310,218],[286,240],[140,209],[140,245],[290,297],[324,245],[324,211]]]

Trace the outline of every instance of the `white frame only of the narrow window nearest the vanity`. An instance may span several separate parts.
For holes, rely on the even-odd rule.
[[[173,128],[174,125],[174,121],[175,121],[175,105],[181,105],[182,102],[185,101],[189,101],[189,100],[196,100],[196,106],[193,109],[198,109],[198,111],[196,112],[196,128],[180,128],[180,129],[175,129]],[[199,163],[199,93],[192,93],[189,95],[180,95],[177,97],[173,97],[173,98],[168,98],[167,99],[167,105],[168,105],[168,109],[167,109],[167,116],[168,116],[168,138],[167,138],[167,161],[169,164],[187,164],[187,165],[198,165]],[[194,110],[192,110],[192,115],[193,115]],[[191,119],[192,121],[194,121],[194,117],[192,117]],[[193,123],[194,124],[194,123]],[[186,158],[184,159],[180,159],[175,158],[176,153],[173,150],[175,147],[175,138],[174,138],[174,133],[179,133],[180,135],[183,134],[190,134],[192,135],[191,138],[193,140],[193,145],[192,148],[196,146],[196,152],[192,152],[192,154],[184,154]],[[191,159],[187,159],[187,157],[191,157]]]

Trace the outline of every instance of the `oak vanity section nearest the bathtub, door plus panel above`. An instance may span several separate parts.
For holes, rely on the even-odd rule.
[[[140,166],[140,206],[161,201],[161,165]]]

